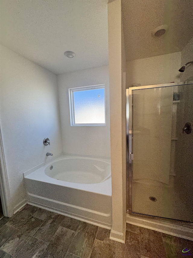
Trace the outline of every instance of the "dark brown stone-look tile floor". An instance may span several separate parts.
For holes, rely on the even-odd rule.
[[[179,258],[193,242],[127,224],[126,242],[110,230],[26,205],[0,220],[0,258]]]

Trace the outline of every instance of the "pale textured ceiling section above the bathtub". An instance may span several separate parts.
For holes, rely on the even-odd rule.
[[[108,64],[106,0],[0,0],[0,22],[1,44],[56,74]]]

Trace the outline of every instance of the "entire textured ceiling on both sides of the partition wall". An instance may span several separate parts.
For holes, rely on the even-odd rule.
[[[122,0],[122,17],[127,60],[181,51],[193,37],[192,0]],[[108,64],[107,0],[0,0],[0,22],[1,44],[56,74]]]

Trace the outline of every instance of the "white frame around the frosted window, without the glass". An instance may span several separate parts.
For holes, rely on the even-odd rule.
[[[76,124],[74,117],[74,92],[83,91],[83,90],[95,90],[95,89],[104,89],[104,100],[105,100],[105,123],[100,124]],[[69,93],[69,104],[70,104],[70,123],[71,126],[106,126],[106,94],[105,94],[105,84],[91,85],[85,87],[77,87],[68,89]]]

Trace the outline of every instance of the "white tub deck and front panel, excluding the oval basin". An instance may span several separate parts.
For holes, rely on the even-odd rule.
[[[72,218],[76,218],[94,225],[111,228],[111,177],[95,184],[80,184],[66,182],[51,178],[45,174],[46,168],[49,168],[53,162],[77,158],[74,156],[62,156],[55,161],[39,168],[30,175],[24,176],[25,187],[27,190],[27,202],[36,207],[54,211]],[[109,160],[83,158],[84,162],[88,160],[106,162]]]

